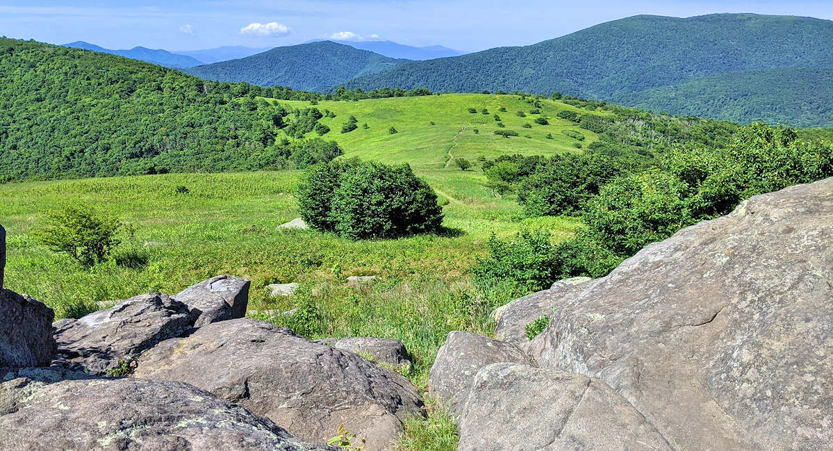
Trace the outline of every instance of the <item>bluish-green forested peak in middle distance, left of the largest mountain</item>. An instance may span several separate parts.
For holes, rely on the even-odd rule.
[[[281,85],[323,92],[351,78],[387,71],[403,63],[407,63],[407,60],[387,58],[367,50],[322,41],[272,48],[251,57],[184,70],[207,80],[246,82],[260,86]]]

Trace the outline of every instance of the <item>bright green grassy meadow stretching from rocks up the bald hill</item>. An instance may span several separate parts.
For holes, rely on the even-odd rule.
[[[507,128],[517,129],[521,137],[497,137],[491,133],[496,129],[492,115],[468,113],[469,105],[500,114]],[[501,107],[507,113],[499,113]],[[450,150],[454,157],[470,159],[576,151],[567,141],[571,138],[557,133],[571,126],[557,119],[550,126],[517,126],[529,118],[515,112],[528,111],[531,105],[514,96],[322,102],[317,108],[337,114],[327,118],[334,130],[350,115],[360,124],[368,123],[368,129],[327,137],[337,138],[347,157],[411,163],[439,195],[444,233],[353,242],[328,233],[277,230],[298,216],[293,193],[301,173],[294,171],[7,183],[0,184],[0,218],[8,231],[7,288],[31,294],[54,308],[57,318],[65,318],[140,293],[177,293],[217,274],[249,278],[250,309],[312,306],[308,310],[314,314],[305,319],[301,331],[311,338],[398,338],[415,360],[409,376],[418,385],[424,383],[447,332],[491,333],[488,313],[494,302],[476,293],[468,273],[485,253],[491,234],[510,236],[521,228],[544,227],[566,237],[580,226],[571,218],[522,218],[514,199],[497,198],[485,187],[480,168],[463,172],[446,165],[446,155]],[[572,107],[548,101],[541,109],[552,118],[558,108]],[[486,120],[489,123],[483,125]],[[400,133],[388,134],[391,125]],[[455,141],[464,126],[466,132]],[[481,133],[474,135],[473,127]],[[525,130],[534,138],[523,138]],[[545,133],[555,138],[547,139]],[[178,187],[188,192],[177,193]],[[82,268],[32,235],[50,210],[69,203],[112,213],[135,233],[125,237],[111,261]],[[352,275],[378,277],[357,289],[347,286],[346,278]],[[265,288],[290,282],[301,288],[286,298],[271,298]],[[283,317],[256,316],[297,326],[285,324]]]

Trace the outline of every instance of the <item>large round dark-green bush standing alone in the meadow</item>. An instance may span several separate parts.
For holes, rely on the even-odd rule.
[[[301,216],[347,238],[399,238],[442,225],[436,193],[407,164],[357,159],[308,168],[298,188]]]

